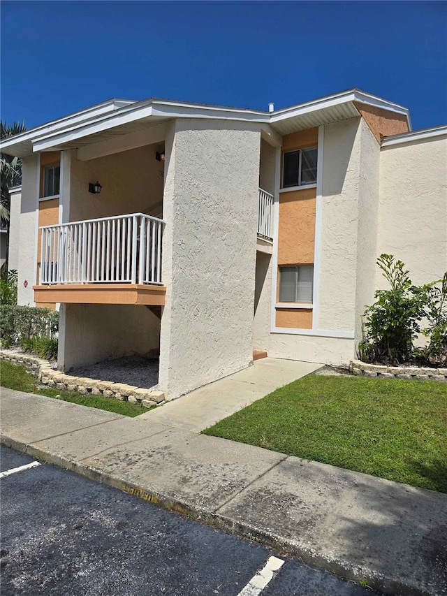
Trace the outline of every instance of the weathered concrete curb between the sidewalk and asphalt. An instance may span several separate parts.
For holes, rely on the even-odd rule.
[[[214,528],[219,528],[231,534],[239,535],[254,542],[259,542],[268,546],[275,551],[292,555],[300,559],[308,565],[314,565],[325,569],[329,572],[335,573],[338,576],[360,583],[360,581],[367,582],[369,588],[386,593],[392,596],[437,596],[432,591],[422,590],[415,586],[408,585],[404,581],[396,581],[386,575],[373,572],[371,569],[361,568],[352,565],[349,561],[331,560],[327,557],[318,555],[312,548],[306,548],[302,544],[295,542],[287,537],[281,537],[273,532],[265,532],[256,525],[245,523],[228,516],[223,516],[214,511],[208,511],[201,507],[197,507],[186,500],[173,500],[161,493],[158,493],[150,488],[133,484],[118,476],[105,473],[95,467],[82,464],[81,461],[71,460],[57,455],[57,453],[49,453],[34,447],[32,444],[17,441],[8,435],[0,434],[0,443],[8,447],[12,447],[22,453],[27,453],[29,456],[37,458],[62,467],[66,470],[71,470],[76,474],[81,474],[92,480],[100,481],[103,484],[108,484],[126,493],[135,495],[142,500],[152,502],[159,507],[175,511],[178,514],[188,516],[200,523],[212,525]]]

